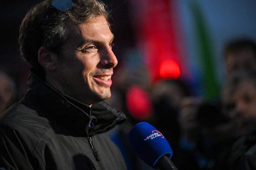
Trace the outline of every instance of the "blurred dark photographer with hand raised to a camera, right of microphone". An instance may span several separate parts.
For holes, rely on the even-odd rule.
[[[192,156],[191,161],[198,166],[196,169],[224,170],[238,130],[223,113],[220,101],[193,99],[191,102],[190,99],[182,101],[179,115],[180,147]]]

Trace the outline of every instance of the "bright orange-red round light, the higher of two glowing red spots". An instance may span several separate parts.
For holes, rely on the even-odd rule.
[[[163,79],[177,79],[180,77],[180,67],[172,60],[165,60],[160,65],[160,77]]]

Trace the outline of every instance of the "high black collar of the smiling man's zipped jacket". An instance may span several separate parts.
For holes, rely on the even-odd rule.
[[[116,124],[126,120],[124,113],[105,101],[95,103],[92,107],[81,103],[65,94],[61,94],[51,85],[39,78],[30,69],[28,86],[40,106],[51,113],[54,121],[61,122],[66,128],[90,136],[104,133]],[[88,128],[89,123],[92,128]]]

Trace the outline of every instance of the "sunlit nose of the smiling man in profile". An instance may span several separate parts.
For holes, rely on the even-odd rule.
[[[105,53],[101,58],[101,65],[109,66],[109,68],[116,67],[118,61],[116,59],[116,55],[113,53],[111,48],[107,48]]]

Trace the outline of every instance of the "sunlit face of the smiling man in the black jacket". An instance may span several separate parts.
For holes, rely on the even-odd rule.
[[[68,27],[70,35],[56,64],[58,90],[88,105],[108,99],[117,59],[106,19],[100,16]]]

